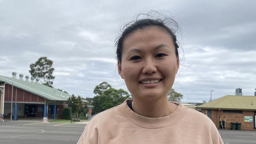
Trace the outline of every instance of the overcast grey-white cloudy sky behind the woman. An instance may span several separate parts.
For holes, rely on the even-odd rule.
[[[136,13],[165,10],[181,32],[184,58],[173,88],[183,102],[254,95],[255,0],[0,0],[0,75],[29,75],[39,57],[54,61],[54,87],[93,97],[103,81],[126,89],[119,77],[114,40]],[[19,76],[17,76],[19,78]]]

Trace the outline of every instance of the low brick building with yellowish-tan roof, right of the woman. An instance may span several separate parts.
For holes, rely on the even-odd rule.
[[[218,129],[222,128],[220,121],[225,121],[226,129],[238,123],[241,130],[256,130],[256,96],[223,96],[199,105],[197,110],[206,114]]]

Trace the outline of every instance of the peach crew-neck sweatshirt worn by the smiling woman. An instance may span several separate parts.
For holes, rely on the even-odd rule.
[[[94,116],[78,144],[223,144],[210,118],[194,109],[174,103],[172,114],[148,118],[127,101]]]

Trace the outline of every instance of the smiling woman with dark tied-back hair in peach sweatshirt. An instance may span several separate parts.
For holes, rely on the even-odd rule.
[[[174,30],[165,22],[126,25],[116,43],[118,72],[133,100],[97,114],[78,144],[223,144],[207,116],[167,101],[180,61]]]

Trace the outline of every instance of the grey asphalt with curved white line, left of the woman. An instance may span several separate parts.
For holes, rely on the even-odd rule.
[[[0,122],[0,144],[76,144],[86,124]]]

